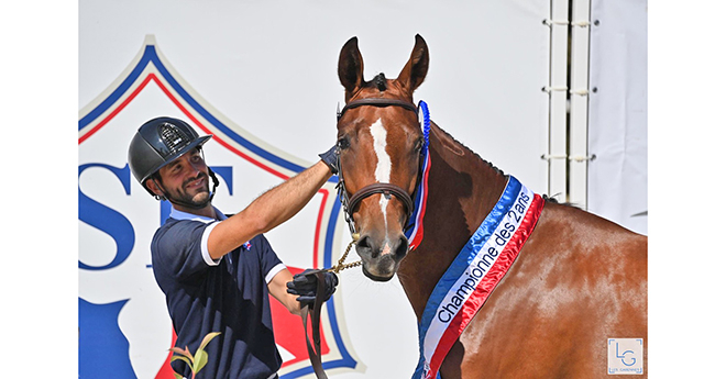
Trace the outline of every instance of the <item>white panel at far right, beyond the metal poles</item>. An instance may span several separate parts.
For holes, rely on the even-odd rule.
[[[593,0],[587,210],[648,234],[648,4]]]

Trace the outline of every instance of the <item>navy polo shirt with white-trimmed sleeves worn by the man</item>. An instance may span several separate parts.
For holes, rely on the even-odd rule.
[[[209,363],[201,377],[266,379],[282,365],[267,283],[285,266],[263,235],[211,259],[207,241],[218,220],[173,210],[152,239],[154,277],[166,296],[175,346],[194,354],[208,333],[221,332],[205,348]],[[184,361],[172,367],[191,377]]]

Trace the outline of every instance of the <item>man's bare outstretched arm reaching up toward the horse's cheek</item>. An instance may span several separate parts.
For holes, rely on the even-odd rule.
[[[212,259],[218,259],[255,235],[289,220],[312,199],[330,176],[331,170],[328,165],[319,160],[305,171],[263,193],[240,213],[215,226],[207,242],[209,255]]]

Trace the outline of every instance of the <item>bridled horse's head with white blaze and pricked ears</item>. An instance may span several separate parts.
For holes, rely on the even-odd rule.
[[[408,253],[404,227],[413,211],[424,135],[414,90],[424,81],[429,52],[421,36],[396,79],[363,79],[363,58],[353,37],[340,52],[338,76],[345,88],[339,112],[341,197],[359,234],[363,272],[393,278]]]

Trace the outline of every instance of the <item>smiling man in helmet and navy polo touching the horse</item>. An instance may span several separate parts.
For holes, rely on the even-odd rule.
[[[144,123],[129,146],[136,180],[173,205],[152,239],[154,277],[166,296],[177,347],[194,354],[207,334],[221,333],[205,348],[204,378],[276,378],[282,358],[267,294],[300,314],[300,302],[315,301],[317,279],[298,275],[293,280],[263,233],[300,211],[337,174],[334,147],[228,218],[211,204],[218,181],[201,151],[209,138],[182,120],[157,118]],[[324,279],[328,300],[338,278],[328,272]],[[172,366],[191,377],[182,360]]]

